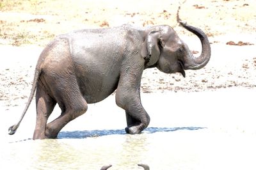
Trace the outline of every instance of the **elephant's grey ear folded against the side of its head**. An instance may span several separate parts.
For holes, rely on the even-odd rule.
[[[164,42],[161,38],[161,33],[159,31],[150,32],[146,39],[147,45],[147,56],[145,58],[146,64],[152,66],[157,63],[161,50],[163,50]]]

